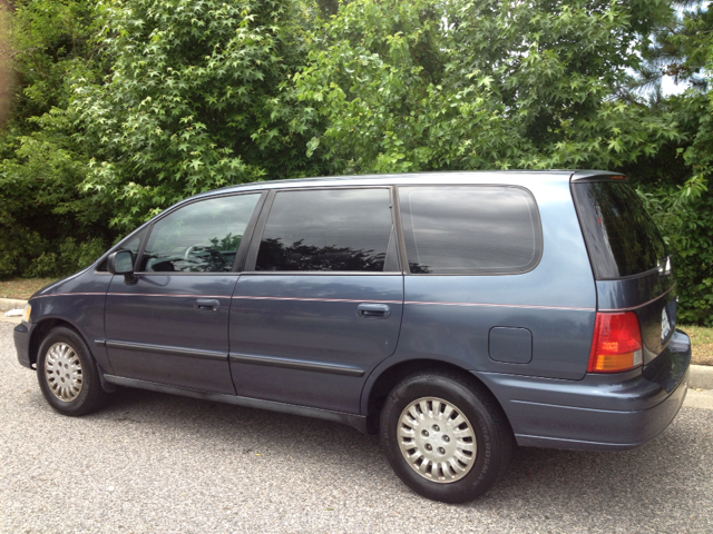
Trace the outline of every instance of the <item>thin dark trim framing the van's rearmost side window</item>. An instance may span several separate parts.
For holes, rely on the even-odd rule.
[[[401,212],[401,189],[402,188],[482,188],[482,187],[488,187],[488,188],[500,188],[500,189],[520,189],[525,192],[525,195],[527,195],[531,201],[533,201],[533,206],[534,206],[534,215],[535,215],[535,225],[534,225],[534,230],[535,230],[535,241],[536,241],[536,246],[539,245],[539,247],[536,249],[538,253],[538,257],[537,257],[537,261],[535,264],[533,264],[531,267],[529,267],[527,270],[519,270],[516,273],[411,273],[411,268],[409,267],[409,258],[408,258],[408,253],[406,249],[406,225],[403,225],[402,227],[402,233],[401,233],[401,244],[402,244],[402,255],[403,255],[403,273],[406,276],[519,276],[519,275],[526,275],[527,273],[531,273],[533,270],[535,270],[539,264],[543,261],[543,256],[545,255],[545,236],[543,233],[543,218],[540,216],[539,212],[539,205],[537,204],[537,198],[535,198],[535,195],[533,194],[533,191],[530,191],[528,188],[524,187],[524,186],[516,186],[516,185],[508,185],[508,184],[399,184],[398,186],[394,186],[397,189],[397,195],[398,195],[398,200],[399,200],[399,219],[400,221],[402,221],[402,217],[403,214]]]

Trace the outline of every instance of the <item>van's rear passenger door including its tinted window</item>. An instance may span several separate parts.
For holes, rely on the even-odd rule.
[[[391,191],[285,190],[267,205],[231,309],[237,394],[358,414],[401,325]]]

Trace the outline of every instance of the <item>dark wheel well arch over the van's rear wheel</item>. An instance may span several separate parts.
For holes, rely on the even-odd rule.
[[[371,389],[369,390],[369,399],[367,403],[367,431],[369,434],[377,434],[379,432],[379,419],[381,416],[381,409],[383,408],[387,396],[394,388],[394,386],[408,376],[423,370],[443,370],[463,376],[473,386],[484,392],[486,395],[490,396],[494,403],[502,412],[505,419],[508,421],[507,415],[505,414],[505,409],[502,409],[502,405],[492,394],[490,388],[469,370],[458,365],[437,359],[408,359],[406,362],[399,362],[398,364],[384,369],[371,386]]]

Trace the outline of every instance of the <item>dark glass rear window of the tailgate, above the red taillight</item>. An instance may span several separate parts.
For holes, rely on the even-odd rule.
[[[658,228],[628,184],[574,184],[573,190],[597,279],[638,275],[665,258]]]

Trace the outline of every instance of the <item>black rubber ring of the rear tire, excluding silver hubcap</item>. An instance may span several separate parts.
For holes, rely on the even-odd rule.
[[[401,413],[413,400],[438,397],[462,412],[476,434],[476,461],[468,474],[451,483],[437,483],[418,474],[404,459],[398,441]],[[502,452],[497,444],[497,429],[480,399],[465,385],[440,376],[414,377],[391,392],[381,414],[381,439],[387,458],[403,483],[420,495],[446,503],[472,501],[498,478]]]

